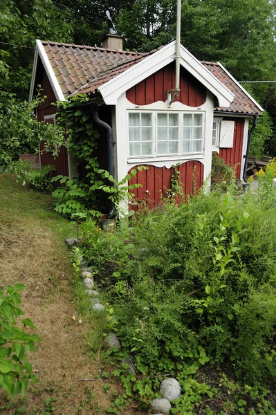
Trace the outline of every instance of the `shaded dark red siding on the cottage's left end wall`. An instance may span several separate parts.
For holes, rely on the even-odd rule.
[[[38,121],[44,121],[44,116],[51,116],[52,114],[55,114],[57,112],[57,107],[55,105],[52,105],[52,102],[57,102],[57,99],[55,98],[55,93],[52,89],[52,86],[50,85],[50,81],[48,80],[48,77],[46,75],[46,72],[44,71],[42,75],[42,97],[46,95],[46,100],[42,102],[41,105],[37,108],[37,120]],[[50,124],[53,124],[53,119],[48,119],[46,122],[49,122]],[[40,161],[42,166],[46,165],[53,165],[55,166],[55,171],[52,172],[52,176],[58,176],[59,174],[62,174],[62,176],[68,176],[68,155],[67,155],[67,149],[66,147],[62,146],[59,151],[59,156],[54,158],[53,154],[46,151],[43,151],[44,149],[44,142],[42,141],[40,143],[40,151],[42,153],[40,154]]]

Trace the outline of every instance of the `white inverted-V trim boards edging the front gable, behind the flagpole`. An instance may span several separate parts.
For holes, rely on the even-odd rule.
[[[173,62],[175,60],[175,44],[175,41],[171,42],[158,52],[149,55],[138,64],[131,66],[127,71],[120,73],[120,75],[100,86],[99,91],[104,102],[106,104],[116,104],[122,93]],[[234,95],[182,45],[181,65],[217,97],[220,107],[229,107]]]

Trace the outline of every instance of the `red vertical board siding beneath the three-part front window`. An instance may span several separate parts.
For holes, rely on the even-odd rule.
[[[167,190],[171,188],[172,173],[174,167],[156,167],[151,165],[145,165],[147,169],[142,169],[140,172],[137,170],[136,177],[131,178],[129,185],[139,183],[142,187],[132,190],[135,194],[134,200],[145,201],[149,208],[154,208],[162,200],[163,196],[166,196]],[[192,194],[193,187],[193,172],[195,169],[196,177],[196,190],[203,185],[203,169],[204,166],[199,161],[187,161],[176,167],[180,172],[180,180],[183,183],[183,192],[188,195]],[[135,169],[135,167],[131,167]],[[129,170],[129,174],[131,172]],[[131,209],[137,210],[137,205],[132,205]]]

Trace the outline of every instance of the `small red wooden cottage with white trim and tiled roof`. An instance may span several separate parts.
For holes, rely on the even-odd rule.
[[[181,46],[180,92],[173,100],[176,42],[137,53],[122,50],[122,37],[107,35],[103,47],[37,40],[30,100],[40,84],[47,99],[37,108],[39,121],[55,122],[53,102],[85,93],[91,100],[95,127],[100,128],[102,168],[118,181],[137,165],[142,184],[138,199],[156,205],[170,187],[179,165],[184,192],[210,178],[212,151],[242,178],[248,149],[248,122],[263,109],[217,62],[199,62]],[[55,160],[41,154],[42,165],[56,174],[73,175],[63,148]]]

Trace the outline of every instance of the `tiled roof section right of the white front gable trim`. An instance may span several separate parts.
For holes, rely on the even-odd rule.
[[[250,100],[248,95],[241,89],[238,82],[223,70],[221,65],[217,62],[201,62],[205,68],[208,68],[213,75],[225,85],[232,93],[234,93],[234,100],[230,104],[229,108],[225,107],[214,107],[214,111],[222,111],[227,113],[245,113],[251,115],[261,115],[262,111],[257,107],[255,102]],[[216,101],[216,100],[215,100]],[[216,105],[216,102],[214,102]]]

